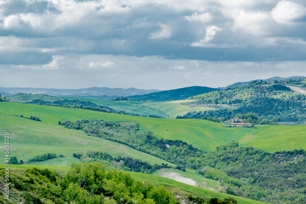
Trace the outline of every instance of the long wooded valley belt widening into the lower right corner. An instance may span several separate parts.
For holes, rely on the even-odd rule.
[[[237,142],[231,141],[213,152],[205,152],[180,140],[158,139],[150,131],[141,133],[138,124],[121,126],[85,119],[62,124],[195,169],[207,178],[220,181],[224,193],[271,203],[306,202],[304,150],[268,153],[253,147],[239,147]]]

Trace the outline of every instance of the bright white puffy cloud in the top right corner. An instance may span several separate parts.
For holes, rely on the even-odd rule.
[[[272,9],[271,15],[273,20],[282,24],[290,24],[306,15],[306,8],[303,5],[282,0]]]

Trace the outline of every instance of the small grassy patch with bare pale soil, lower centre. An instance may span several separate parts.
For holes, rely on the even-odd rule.
[[[219,190],[218,185],[217,185],[218,181],[205,178],[203,175],[196,173],[196,171],[191,170],[191,169],[186,169],[186,172],[180,171],[177,169],[159,169],[152,174],[156,176],[171,178],[177,181],[180,181],[179,177],[189,178],[195,181],[196,184],[201,185],[203,188],[207,188],[207,189],[215,190],[215,191]],[[188,184],[188,181],[183,182],[183,183]]]

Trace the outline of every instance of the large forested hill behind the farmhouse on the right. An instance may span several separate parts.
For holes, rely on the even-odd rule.
[[[234,115],[256,113],[260,120],[255,124],[270,124],[274,118],[281,121],[303,122],[306,119],[306,95],[284,92],[290,90],[281,84],[261,86],[262,82],[255,82],[242,87],[232,87],[226,90],[205,93],[189,99],[196,99],[197,104],[225,104],[235,108],[222,108],[200,112],[190,112],[182,118],[233,118]],[[188,104],[187,104],[188,105]],[[269,120],[269,121],[268,121]],[[268,122],[267,122],[268,121]],[[271,122],[273,124],[273,122]]]

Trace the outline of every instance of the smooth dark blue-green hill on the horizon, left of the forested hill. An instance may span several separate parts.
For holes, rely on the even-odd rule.
[[[185,100],[188,97],[197,96],[203,93],[218,91],[220,89],[210,88],[205,86],[190,86],[180,89],[172,89],[143,95],[129,96],[132,100],[155,100],[155,101],[172,101]]]

